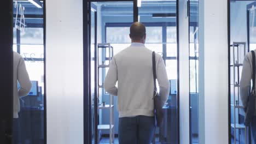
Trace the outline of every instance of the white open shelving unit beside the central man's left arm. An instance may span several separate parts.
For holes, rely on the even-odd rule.
[[[103,79],[100,83],[100,74],[103,74],[107,68],[109,68],[110,61],[113,57],[113,47],[108,44],[98,44],[98,93],[100,90],[103,90]],[[101,55],[100,55],[101,53]],[[100,61],[102,59],[102,61]],[[102,62],[102,63],[101,63]],[[107,63],[108,62],[108,63]],[[115,138],[115,129],[114,129],[114,97],[109,94],[109,104],[101,104],[97,107],[98,113],[100,110],[109,110],[109,124],[98,124],[98,142],[100,142],[100,131],[109,130],[109,143],[114,143]]]

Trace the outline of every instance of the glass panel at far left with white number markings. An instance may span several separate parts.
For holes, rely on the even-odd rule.
[[[20,95],[24,88],[20,82],[25,76],[21,74],[16,80],[19,92],[14,93],[14,109],[18,109],[18,116],[15,116],[14,110],[14,144],[45,143],[44,3],[36,0],[13,1],[13,9],[13,51],[24,59],[32,85],[26,89],[27,95]],[[18,67],[14,67],[18,74],[23,68],[21,63],[22,60]]]

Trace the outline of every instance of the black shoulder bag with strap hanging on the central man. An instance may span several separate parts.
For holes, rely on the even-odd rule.
[[[155,65],[155,52],[152,53],[153,59],[153,76],[154,76],[154,113],[155,113],[155,126],[161,127],[162,120],[164,119],[164,110],[162,109],[161,97],[156,88],[156,65]]]

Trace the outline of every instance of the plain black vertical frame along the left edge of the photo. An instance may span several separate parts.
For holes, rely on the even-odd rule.
[[[13,1],[0,5],[0,143],[11,143],[13,127]]]

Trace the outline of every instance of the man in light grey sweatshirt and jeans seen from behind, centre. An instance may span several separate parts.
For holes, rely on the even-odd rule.
[[[119,143],[149,144],[154,125],[154,79],[152,51],[145,47],[146,27],[135,22],[130,27],[131,45],[112,58],[104,88],[118,96]],[[156,78],[160,87],[162,106],[170,91],[165,64],[158,54]],[[118,82],[118,87],[116,83]]]

